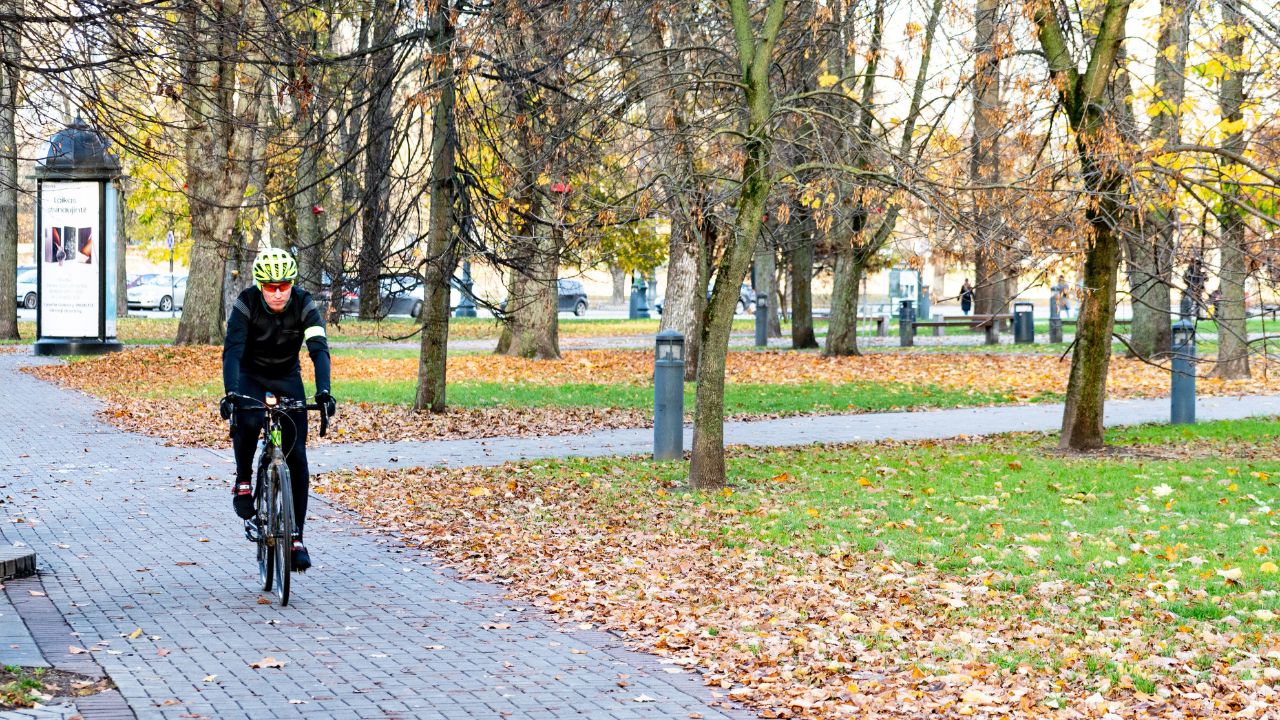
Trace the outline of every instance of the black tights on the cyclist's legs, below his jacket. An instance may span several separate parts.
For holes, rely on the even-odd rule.
[[[268,392],[276,397],[306,400],[302,375],[297,374],[270,379],[241,373],[239,392],[259,400]],[[236,437],[232,438],[232,446],[236,448],[237,482],[253,479],[253,451],[257,450],[257,439],[262,437],[264,420],[262,413],[239,413],[236,419]],[[289,466],[293,486],[293,521],[298,527],[298,537],[302,537],[302,524],[307,516],[307,492],[311,487],[311,475],[307,471],[306,411],[291,410],[288,416],[280,420],[280,450],[284,451],[284,462]]]

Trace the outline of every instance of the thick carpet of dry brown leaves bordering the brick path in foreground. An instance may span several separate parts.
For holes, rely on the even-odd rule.
[[[727,503],[637,492],[618,473],[361,471],[316,488],[468,577],[700,670],[764,717],[1266,717],[1280,703],[1280,635],[1103,583],[1018,592],[986,569],[726,546],[698,529],[732,527]]]

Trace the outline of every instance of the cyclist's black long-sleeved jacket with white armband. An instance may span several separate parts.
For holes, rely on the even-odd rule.
[[[223,388],[239,392],[241,373],[278,379],[301,372],[298,351],[303,342],[316,368],[316,392],[329,392],[329,340],[311,293],[293,286],[289,304],[273,313],[262,291],[256,286],[244,288],[227,319]]]

